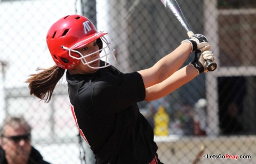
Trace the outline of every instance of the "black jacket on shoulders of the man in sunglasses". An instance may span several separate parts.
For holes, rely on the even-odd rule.
[[[8,164],[7,160],[5,158],[5,152],[0,146],[0,163],[1,164]],[[38,150],[35,149],[35,147],[31,147],[31,152],[29,155],[29,162],[28,164],[50,164],[49,162],[46,162],[43,160],[42,155]]]

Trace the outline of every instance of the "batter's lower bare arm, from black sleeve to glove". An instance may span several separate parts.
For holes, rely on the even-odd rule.
[[[175,89],[178,89],[182,85],[194,79],[197,75],[198,71],[189,64],[173,73],[172,76],[161,83],[146,88],[145,101],[153,101],[170,94],[175,91]]]

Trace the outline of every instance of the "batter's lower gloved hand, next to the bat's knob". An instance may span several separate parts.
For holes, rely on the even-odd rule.
[[[196,50],[195,58],[190,64],[197,69],[198,74],[202,72],[205,72],[205,73],[208,72],[206,68],[207,64],[205,60],[211,60],[212,62],[214,61],[214,55],[212,51],[205,50],[202,52],[200,50]]]

